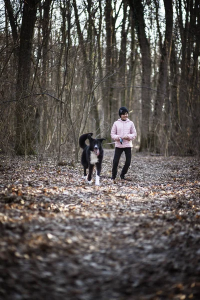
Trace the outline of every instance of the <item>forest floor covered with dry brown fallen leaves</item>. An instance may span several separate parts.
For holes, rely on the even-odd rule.
[[[0,300],[200,299],[199,158],[136,153],[112,181],[113,151],[100,186],[1,154]]]

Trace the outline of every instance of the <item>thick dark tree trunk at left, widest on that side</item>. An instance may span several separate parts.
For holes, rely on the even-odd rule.
[[[36,0],[26,0],[23,4],[22,23],[20,30],[20,45],[18,57],[18,75],[16,85],[16,140],[15,151],[18,155],[33,154],[32,139],[33,127],[31,126],[34,117],[33,106],[28,91],[32,36],[37,11]],[[28,97],[27,97],[28,95]]]

